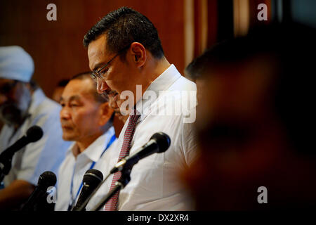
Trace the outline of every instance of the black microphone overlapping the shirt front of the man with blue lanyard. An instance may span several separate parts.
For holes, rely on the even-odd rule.
[[[96,187],[103,181],[103,174],[98,169],[88,169],[84,174],[82,183],[84,184],[81,188],[77,204],[74,206],[72,211],[78,211],[79,208],[86,208],[86,199],[93,193]]]

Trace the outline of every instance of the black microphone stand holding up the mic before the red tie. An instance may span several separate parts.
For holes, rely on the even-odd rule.
[[[129,181],[131,181],[131,169],[132,168],[133,168],[133,165],[128,166],[128,167],[126,167],[126,165],[125,165],[123,167],[123,169],[121,170],[121,178],[117,181],[113,190],[110,191],[109,193],[107,193],[107,195],[105,195],[105,197],[103,197],[102,200],[100,200],[100,202],[98,203],[98,205],[96,207],[94,207],[91,211],[100,210],[100,208],[102,208],[103,205],[105,205],[105,203],[107,203],[110,200],[110,198],[112,198],[113,195],[115,195],[115,193],[117,193],[117,191],[120,191],[127,184],[129,184]],[[81,210],[79,210],[79,211],[81,211]]]

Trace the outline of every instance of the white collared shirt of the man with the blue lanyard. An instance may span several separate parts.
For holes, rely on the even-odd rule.
[[[113,136],[116,139],[114,127],[110,127],[105,134],[99,136],[88,148],[79,153],[77,158],[74,156],[74,152],[78,150],[76,143],[70,146],[58,172],[56,211],[67,211],[69,205],[76,205],[84,174],[88,169],[96,169],[91,168],[91,165],[93,162],[98,162],[101,155],[107,152],[108,149],[105,149],[110,145],[110,141],[113,141]]]

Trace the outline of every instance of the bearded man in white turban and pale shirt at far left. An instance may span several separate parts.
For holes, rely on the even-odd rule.
[[[20,46],[0,47],[0,153],[38,125],[44,135],[18,150],[0,190],[0,210],[18,209],[37,185],[39,175],[57,172],[70,142],[62,140],[60,105],[31,81],[32,57]]]

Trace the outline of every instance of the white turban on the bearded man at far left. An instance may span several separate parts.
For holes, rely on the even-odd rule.
[[[34,72],[31,56],[20,46],[0,47],[0,78],[29,82]]]

